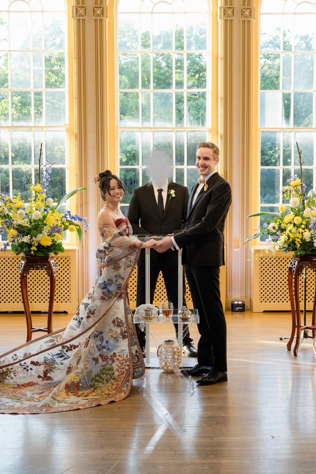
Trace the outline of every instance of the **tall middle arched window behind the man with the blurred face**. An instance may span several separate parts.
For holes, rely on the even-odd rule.
[[[147,160],[162,150],[171,179],[191,189],[195,150],[210,136],[208,0],[120,0],[118,4],[119,173],[127,186],[149,181]]]

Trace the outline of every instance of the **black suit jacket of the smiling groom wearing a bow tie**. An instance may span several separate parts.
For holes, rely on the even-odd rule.
[[[224,265],[224,223],[232,202],[229,183],[217,172],[207,180],[207,190],[199,192],[192,205],[198,183],[192,188],[186,229],[174,237],[184,247],[182,263],[192,266]],[[207,284],[205,282],[205,284]]]

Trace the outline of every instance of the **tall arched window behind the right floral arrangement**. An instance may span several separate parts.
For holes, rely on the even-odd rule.
[[[316,1],[262,0],[260,10],[260,210],[299,176],[316,185]]]

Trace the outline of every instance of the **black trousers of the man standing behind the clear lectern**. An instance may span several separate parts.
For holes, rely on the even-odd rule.
[[[173,303],[173,307],[178,307],[178,269],[177,265],[169,266],[165,259],[159,259],[158,264],[150,268],[150,303],[152,304],[154,300],[154,294],[156,289],[156,284],[158,280],[158,275],[161,270],[162,276],[164,277],[168,301]],[[146,300],[146,274],[145,267],[137,267],[137,296],[136,296],[136,307],[141,304],[145,304]],[[183,301],[182,305],[186,306],[186,285],[185,285],[185,275],[183,273]],[[174,323],[176,329],[176,335],[178,337],[178,325]],[[139,324],[136,324],[136,334],[139,340],[140,347],[145,347],[146,344],[146,334],[145,331],[142,331],[139,328]],[[190,338],[190,333],[188,325],[183,325],[183,344],[193,341]]]

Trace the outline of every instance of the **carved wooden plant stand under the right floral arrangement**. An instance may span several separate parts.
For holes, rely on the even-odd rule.
[[[301,257],[293,257],[288,264],[288,293],[291,304],[292,313],[292,331],[287,347],[291,350],[291,345],[296,332],[296,342],[294,346],[294,356],[297,356],[298,346],[300,345],[301,332],[304,331],[302,338],[311,337],[307,335],[308,329],[312,331],[312,337],[316,336],[315,313],[316,313],[316,285],[312,312],[312,324],[306,326],[306,292],[304,291],[304,325],[301,324],[301,311],[299,306],[299,277],[304,272],[306,277],[306,269],[310,268],[316,272],[316,255],[303,255]],[[303,339],[302,339],[303,340]]]

